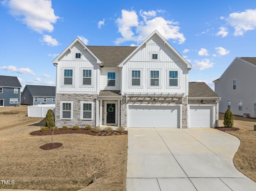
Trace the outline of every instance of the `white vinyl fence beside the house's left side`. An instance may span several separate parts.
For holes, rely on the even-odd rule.
[[[45,117],[48,109],[53,110],[55,115],[55,104],[38,104],[28,106],[28,117]]]

